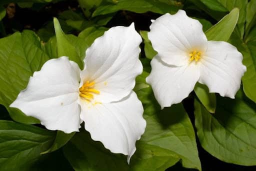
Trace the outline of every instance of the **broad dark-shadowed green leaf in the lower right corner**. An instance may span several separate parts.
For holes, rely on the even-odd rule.
[[[195,126],[202,147],[218,159],[240,165],[256,164],[256,106],[244,98],[218,97],[214,114],[194,101]]]

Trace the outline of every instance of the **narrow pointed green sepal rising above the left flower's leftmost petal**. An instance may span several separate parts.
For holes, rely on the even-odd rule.
[[[57,39],[58,57],[68,56],[69,60],[73,60],[74,62],[76,62],[79,65],[79,67],[82,69],[83,62],[79,57],[79,55],[77,54],[75,46],[72,43],[70,43],[70,39],[68,39],[68,37],[62,31],[57,18],[55,17],[53,18],[53,23],[54,23],[54,29],[56,33],[56,39]]]

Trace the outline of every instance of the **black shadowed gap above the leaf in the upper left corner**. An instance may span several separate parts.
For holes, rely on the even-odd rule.
[[[4,5],[7,7],[8,5]],[[11,34],[15,31],[30,29],[33,31],[43,27],[48,21],[52,21],[53,17],[67,9],[77,9],[78,2],[76,0],[65,0],[57,3],[34,3],[31,8],[21,8],[17,4],[11,6],[11,14],[6,14],[2,19],[5,28],[5,34]],[[0,36],[5,36],[0,32]]]

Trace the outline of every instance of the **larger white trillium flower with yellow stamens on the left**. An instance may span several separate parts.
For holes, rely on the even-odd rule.
[[[83,70],[65,56],[46,61],[10,107],[65,133],[78,131],[84,121],[93,140],[129,160],[146,125],[132,91],[142,72],[141,41],[133,23],[110,28],[86,50]]]

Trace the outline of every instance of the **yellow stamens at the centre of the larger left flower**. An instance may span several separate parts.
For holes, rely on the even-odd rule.
[[[80,88],[79,88],[79,95],[83,97],[86,101],[90,102],[93,99],[93,93],[99,94],[99,90],[94,89],[95,82],[86,81]]]

